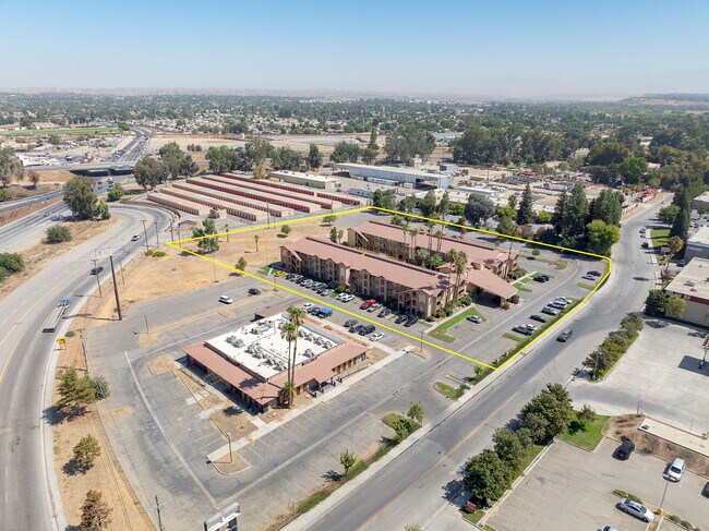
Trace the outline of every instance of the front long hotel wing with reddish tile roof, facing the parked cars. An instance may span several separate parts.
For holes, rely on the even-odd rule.
[[[389,303],[422,317],[434,315],[466,293],[465,277],[448,276],[388,256],[305,237],[280,248],[284,267]],[[458,289],[455,288],[456,281]]]

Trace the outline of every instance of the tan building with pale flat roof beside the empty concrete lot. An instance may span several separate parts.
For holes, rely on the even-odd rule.
[[[685,300],[682,321],[709,326],[709,260],[693,258],[664,289]]]

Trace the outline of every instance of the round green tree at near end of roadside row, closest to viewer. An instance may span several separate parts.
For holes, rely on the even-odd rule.
[[[464,486],[481,503],[496,500],[512,486],[515,470],[494,450],[485,448],[465,466]]]

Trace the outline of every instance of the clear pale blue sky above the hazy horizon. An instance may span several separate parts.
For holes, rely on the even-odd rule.
[[[709,93],[709,0],[0,0],[0,87]]]

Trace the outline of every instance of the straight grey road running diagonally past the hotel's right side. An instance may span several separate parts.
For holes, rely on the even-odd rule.
[[[645,278],[652,278],[653,271],[640,249],[638,231],[659,207],[652,205],[625,221],[614,274],[568,323],[574,329],[569,342],[548,338],[464,407],[436,419],[429,434],[304,529],[390,530],[406,523],[432,523],[432,517],[459,495],[460,467],[490,446],[492,432],[513,420],[546,383],[566,383],[620,319],[641,307],[647,297]]]

